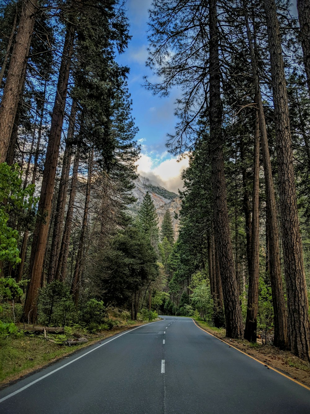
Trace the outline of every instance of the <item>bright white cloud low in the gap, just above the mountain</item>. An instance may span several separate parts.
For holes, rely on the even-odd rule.
[[[141,176],[148,177],[153,184],[161,185],[169,191],[178,193],[178,189],[183,188],[181,173],[188,167],[188,157],[178,162],[176,157],[164,159],[167,155],[167,152],[141,154],[141,158],[137,162],[137,171]]]

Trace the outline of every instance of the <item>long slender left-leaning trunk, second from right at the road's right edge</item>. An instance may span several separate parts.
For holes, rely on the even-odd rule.
[[[260,123],[260,137],[262,146],[262,159],[264,165],[265,175],[265,191],[266,191],[266,210],[267,210],[267,265],[270,271],[271,291],[272,291],[272,304],[274,308],[274,345],[281,349],[287,349],[288,347],[288,334],[287,334],[287,315],[286,306],[283,292],[283,283],[281,276],[281,260],[279,252],[279,231],[277,220],[277,207],[274,195],[274,186],[272,180],[272,168],[269,155],[267,129],[265,122],[264,108],[262,105],[262,95],[260,92],[260,83],[258,77],[258,63],[253,48],[253,39],[248,24],[248,15],[246,10],[246,4],[244,3],[245,20],[247,36],[250,48],[250,56],[253,68],[253,81],[255,87],[255,98],[258,107],[258,117]]]

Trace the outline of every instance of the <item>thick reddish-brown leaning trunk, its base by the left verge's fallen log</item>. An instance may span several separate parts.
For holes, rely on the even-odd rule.
[[[32,310],[31,322],[36,320],[38,289],[41,281],[44,252],[48,237],[48,224],[50,222],[50,212],[52,207],[52,196],[54,193],[55,175],[57,168],[58,153],[60,147],[60,137],[64,120],[64,108],[67,98],[67,88],[71,57],[73,53],[74,29],[67,29],[64,41],[64,50],[60,65],[60,73],[57,83],[55,104],[52,113],[48,147],[45,156],[41,195],[38,205],[38,214],[35,230],[33,233],[33,243],[31,246],[31,257],[29,262],[30,282],[27,290],[24,317]]]

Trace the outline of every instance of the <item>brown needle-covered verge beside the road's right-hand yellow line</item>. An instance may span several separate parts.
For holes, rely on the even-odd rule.
[[[310,363],[303,361],[289,351],[281,351],[279,348],[268,344],[251,344],[246,340],[231,339],[225,337],[225,329],[210,327],[207,323],[196,320],[197,325],[215,337],[226,342],[244,353],[258,359],[264,365],[277,369],[294,380],[310,387]]]

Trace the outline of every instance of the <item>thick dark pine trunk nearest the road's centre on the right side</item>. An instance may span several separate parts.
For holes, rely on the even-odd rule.
[[[213,190],[214,225],[216,246],[219,256],[219,270],[222,277],[226,335],[232,338],[243,337],[243,324],[236,280],[233,249],[230,235],[224,158],[222,150],[222,102],[220,95],[220,63],[217,27],[216,0],[209,3],[210,26],[210,150],[211,183]]]

